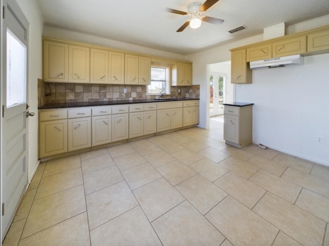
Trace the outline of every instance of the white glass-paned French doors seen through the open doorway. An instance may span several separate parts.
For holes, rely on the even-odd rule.
[[[220,73],[210,72],[210,98],[209,98],[209,115],[210,117],[224,114],[224,84],[227,76]]]

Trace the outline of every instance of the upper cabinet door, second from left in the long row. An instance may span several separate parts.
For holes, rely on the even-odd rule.
[[[68,46],[68,82],[89,83],[90,50],[87,47]]]

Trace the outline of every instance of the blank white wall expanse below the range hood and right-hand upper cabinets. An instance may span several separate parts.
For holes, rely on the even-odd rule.
[[[329,166],[328,67],[329,54],[308,56],[304,65],[254,70],[252,84],[236,87],[237,101],[255,103],[252,141]]]

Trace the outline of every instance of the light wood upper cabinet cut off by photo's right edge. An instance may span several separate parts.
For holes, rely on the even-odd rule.
[[[307,35],[307,52],[329,49],[329,28]]]

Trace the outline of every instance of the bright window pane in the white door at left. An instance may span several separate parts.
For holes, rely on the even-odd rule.
[[[7,108],[26,102],[26,46],[7,29]]]

